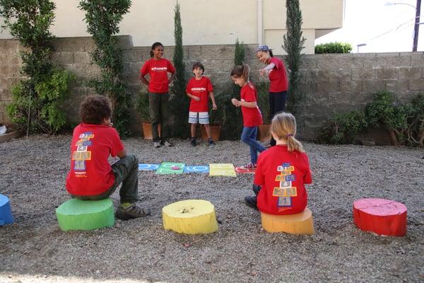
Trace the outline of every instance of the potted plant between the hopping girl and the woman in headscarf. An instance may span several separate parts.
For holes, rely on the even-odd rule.
[[[257,84],[258,105],[261,110],[264,124],[259,125],[258,137],[259,141],[265,142],[271,140],[271,121],[269,119],[269,83],[261,82]]]

